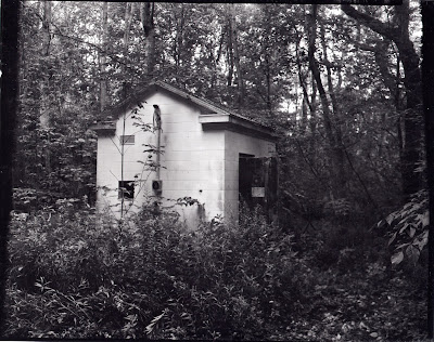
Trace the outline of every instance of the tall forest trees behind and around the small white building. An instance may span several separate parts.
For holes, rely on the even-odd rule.
[[[15,187],[92,199],[90,124],[155,78],[275,127],[290,197],[388,213],[422,188],[420,36],[408,2],[25,2]]]

